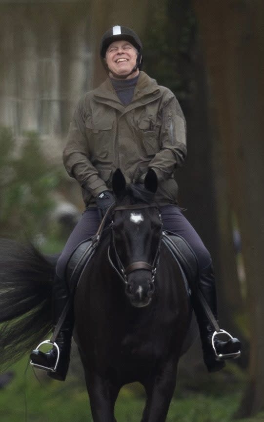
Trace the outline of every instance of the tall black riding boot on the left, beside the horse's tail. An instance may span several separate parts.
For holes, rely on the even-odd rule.
[[[59,321],[61,313],[68,301],[69,293],[65,282],[55,275],[53,283],[53,324],[54,328]],[[74,316],[72,306],[68,310],[66,317],[62,323],[56,343],[60,350],[60,358],[56,372],[48,371],[48,375],[55,380],[64,381],[67,375],[70,363],[71,339],[74,325]],[[57,362],[57,348],[53,348],[47,353],[35,349],[31,352],[30,358],[33,364],[41,365],[46,368],[54,368]]]

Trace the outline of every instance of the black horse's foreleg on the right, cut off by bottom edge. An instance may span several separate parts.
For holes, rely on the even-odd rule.
[[[177,373],[175,358],[166,362],[152,380],[145,383],[146,405],[141,422],[165,422]]]

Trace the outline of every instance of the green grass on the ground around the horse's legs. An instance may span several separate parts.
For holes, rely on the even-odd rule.
[[[26,364],[22,360],[14,365],[10,369],[15,374],[13,381],[0,390],[2,422],[92,422],[83,382],[74,376],[69,376],[66,382],[57,382],[42,375],[40,383],[34,377],[32,368],[28,368],[24,374]],[[240,389],[232,391],[231,388],[223,393],[218,391],[217,394],[217,389],[206,385],[207,389],[203,388],[203,392],[182,391],[178,387],[167,422],[231,421],[241,400]],[[122,422],[139,422],[143,406],[142,388],[135,384],[124,387],[116,405],[116,418]],[[264,416],[260,415],[241,422],[263,421]]]

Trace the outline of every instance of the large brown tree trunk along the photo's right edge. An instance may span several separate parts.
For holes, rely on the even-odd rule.
[[[228,197],[238,216],[248,282],[249,384],[239,417],[264,409],[264,3],[194,0],[223,144]]]

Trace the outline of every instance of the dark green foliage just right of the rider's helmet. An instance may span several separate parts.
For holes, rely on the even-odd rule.
[[[190,1],[152,2],[142,37],[144,69],[169,87],[179,100],[192,89],[192,56],[196,20]]]

